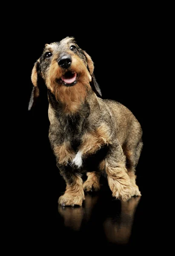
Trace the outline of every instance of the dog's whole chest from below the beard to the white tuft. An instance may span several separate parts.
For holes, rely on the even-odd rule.
[[[49,105],[49,120],[49,140],[60,164],[80,168],[83,160],[110,143],[109,127],[95,125],[93,118],[89,121],[87,106],[74,116],[65,116]]]

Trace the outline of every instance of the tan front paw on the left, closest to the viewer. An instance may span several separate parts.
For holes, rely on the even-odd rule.
[[[64,195],[61,195],[58,199],[58,204],[62,206],[75,206],[79,205],[82,206],[83,200],[85,199],[84,192],[82,192],[80,195],[78,194],[71,194],[66,193]]]

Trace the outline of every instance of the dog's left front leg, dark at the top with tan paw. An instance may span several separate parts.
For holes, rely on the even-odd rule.
[[[71,172],[66,166],[59,166],[60,174],[66,181],[66,191],[58,199],[62,206],[81,206],[85,199],[83,191],[83,180],[80,174]]]

